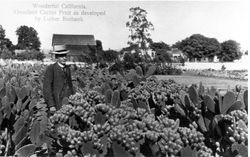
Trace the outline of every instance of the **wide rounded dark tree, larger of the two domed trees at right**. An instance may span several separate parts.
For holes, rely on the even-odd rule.
[[[193,34],[182,41],[178,41],[173,47],[182,50],[189,59],[213,58],[220,52],[220,43],[217,39],[208,38],[201,34]]]

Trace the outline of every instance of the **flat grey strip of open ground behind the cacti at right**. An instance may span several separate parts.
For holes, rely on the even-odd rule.
[[[230,88],[235,88],[237,84],[241,85],[244,89],[248,88],[248,81],[241,81],[241,80],[229,80],[223,78],[209,78],[209,77],[202,77],[202,76],[187,76],[187,75],[157,75],[158,79],[173,79],[175,82],[185,85],[197,84],[199,85],[200,82],[205,87],[214,86],[217,89],[226,90],[228,86]]]

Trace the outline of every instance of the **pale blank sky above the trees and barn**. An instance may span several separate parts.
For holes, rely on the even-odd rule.
[[[52,34],[93,34],[102,41],[104,49],[121,49],[128,41],[129,31],[125,25],[129,8],[137,6],[148,12],[148,20],[155,28],[151,32],[155,42],[172,45],[198,33],[217,38],[219,42],[233,39],[243,50],[250,48],[248,1],[4,0],[0,1],[0,24],[14,44],[17,43],[16,29],[26,25],[37,30],[42,49],[52,48]],[[73,15],[74,12],[78,15]],[[89,12],[95,15],[86,15]],[[71,21],[73,18],[77,21]]]

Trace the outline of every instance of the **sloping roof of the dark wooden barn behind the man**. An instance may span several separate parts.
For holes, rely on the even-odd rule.
[[[94,35],[53,34],[53,45],[96,45]]]

